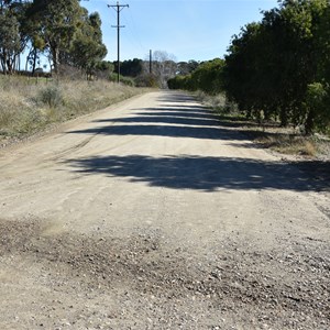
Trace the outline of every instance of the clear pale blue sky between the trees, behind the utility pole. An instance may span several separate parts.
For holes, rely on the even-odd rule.
[[[116,0],[81,1],[102,20],[107,59],[117,59],[117,13],[107,4]],[[120,0],[121,59],[146,58],[148,51],[166,51],[176,61],[223,57],[233,34],[246,23],[260,21],[261,10],[277,7],[277,0]]]

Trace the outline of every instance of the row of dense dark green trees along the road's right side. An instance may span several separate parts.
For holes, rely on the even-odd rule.
[[[200,65],[170,88],[226,92],[248,117],[330,127],[330,3],[285,0],[234,35],[224,61]]]

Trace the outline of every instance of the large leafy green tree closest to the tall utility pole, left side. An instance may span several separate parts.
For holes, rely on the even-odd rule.
[[[90,77],[107,55],[100,15],[88,14],[79,0],[33,0],[26,16],[32,63],[48,52],[55,74],[72,66]]]

